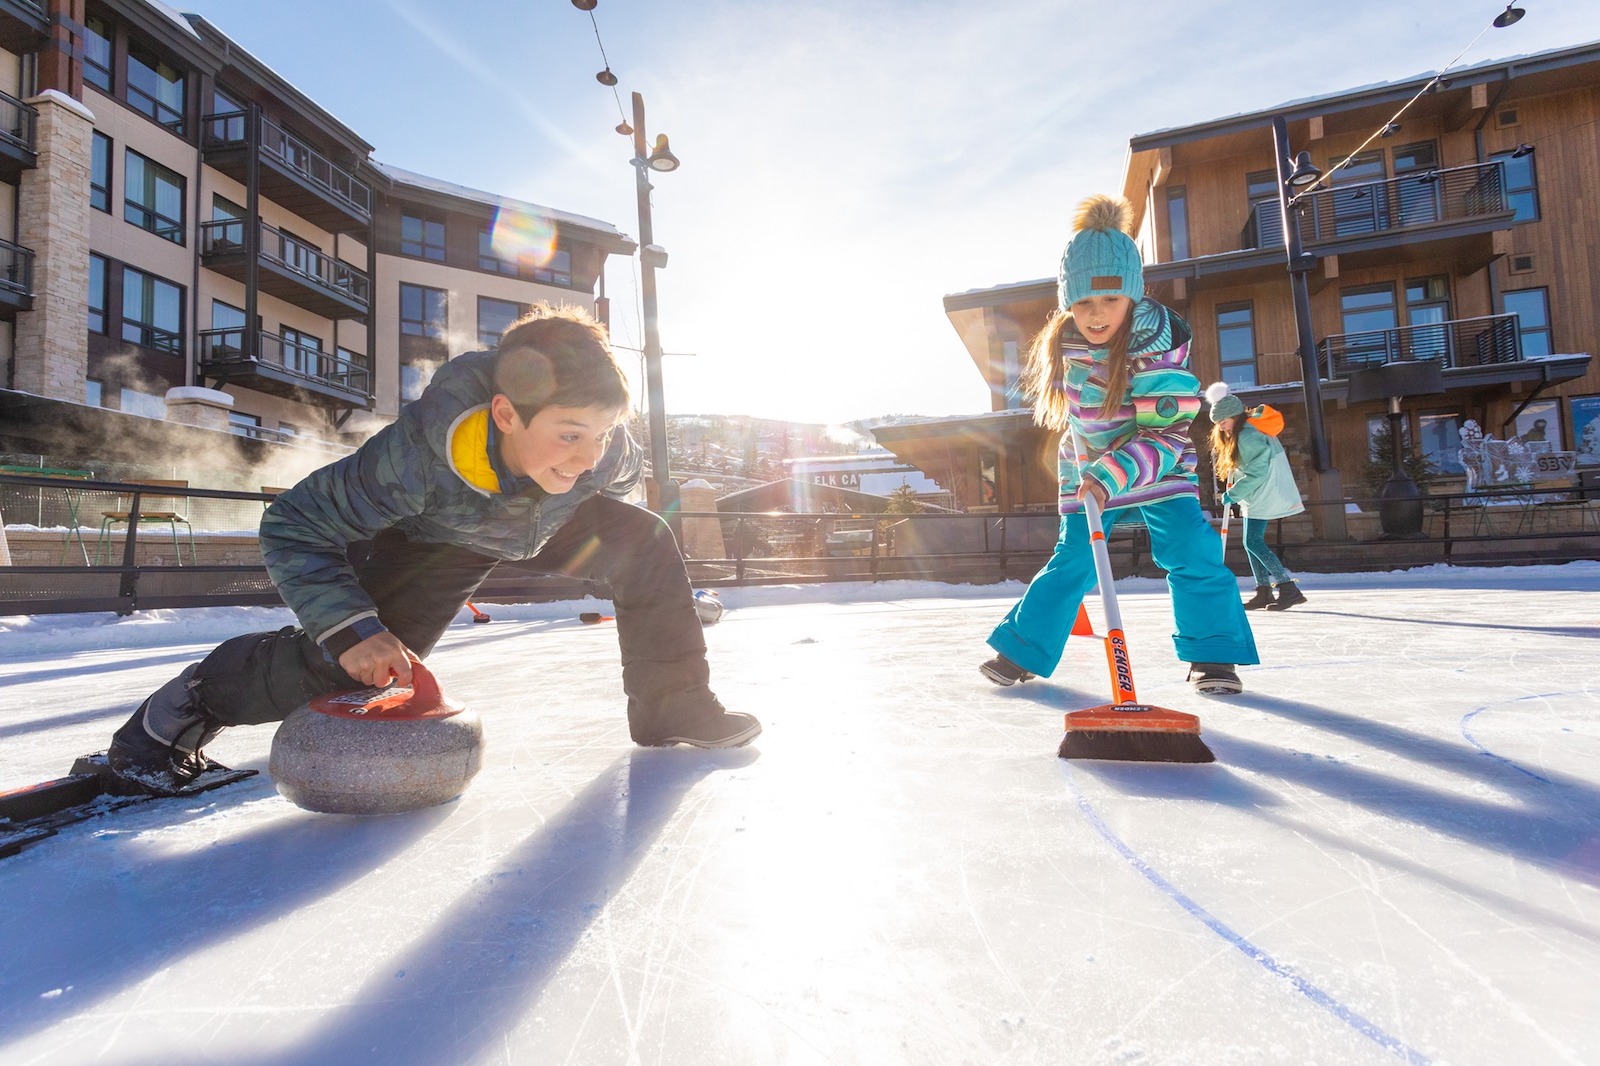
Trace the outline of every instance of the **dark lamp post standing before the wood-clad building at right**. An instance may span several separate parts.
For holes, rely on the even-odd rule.
[[[1346,539],[1344,485],[1339,471],[1328,456],[1328,431],[1322,421],[1322,367],[1317,360],[1317,343],[1310,328],[1310,288],[1306,275],[1317,266],[1317,256],[1301,246],[1299,221],[1296,218],[1299,187],[1312,186],[1320,178],[1304,152],[1298,165],[1290,163],[1290,134],[1283,115],[1272,118],[1272,152],[1278,163],[1278,211],[1283,221],[1283,253],[1288,261],[1290,288],[1294,295],[1294,338],[1299,349],[1301,389],[1306,397],[1306,432],[1310,437],[1312,527],[1322,539]]]

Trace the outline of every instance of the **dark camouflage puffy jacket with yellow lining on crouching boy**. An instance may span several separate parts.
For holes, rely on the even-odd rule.
[[[611,434],[595,467],[558,496],[483,488],[485,471],[464,467],[482,458],[493,373],[494,352],[446,362],[392,426],[267,507],[261,519],[267,573],[312,637],[322,640],[376,613],[346,562],[352,543],[394,527],[413,541],[528,559],[582,501],[600,493],[621,499],[635,488],[643,456],[624,427]],[[493,474],[486,483],[496,483]]]

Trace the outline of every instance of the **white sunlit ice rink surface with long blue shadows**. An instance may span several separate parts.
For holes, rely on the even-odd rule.
[[[731,752],[629,743],[606,603],[464,611],[459,800],[307,813],[237,728],[261,776],[0,860],[0,1061],[1600,1063],[1600,563],[1306,575],[1226,699],[1120,583],[1211,765],[1058,759],[1106,659],[982,680],[1021,587],[725,591]],[[0,789],[288,621],[0,619]]]

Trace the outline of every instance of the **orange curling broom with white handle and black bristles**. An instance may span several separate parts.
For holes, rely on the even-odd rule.
[[[1077,432],[1072,447],[1078,461],[1078,477],[1083,475],[1083,445]],[[1106,607],[1106,663],[1110,666],[1112,703],[1067,714],[1067,735],[1061,738],[1062,759],[1110,759],[1118,762],[1216,762],[1216,755],[1200,739],[1200,719],[1182,711],[1170,711],[1155,704],[1139,703],[1133,690],[1133,664],[1128,659],[1128,639],[1122,631],[1122,611],[1117,610],[1117,591],[1110,573],[1110,552],[1106,547],[1106,530],[1101,525],[1099,503],[1094,493],[1083,498],[1083,514],[1090,522],[1090,547],[1094,552],[1094,573],[1099,579],[1101,603]],[[1082,627],[1085,615],[1078,608]]]

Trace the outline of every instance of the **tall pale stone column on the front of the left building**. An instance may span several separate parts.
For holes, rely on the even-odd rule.
[[[58,90],[27,102],[38,110],[38,166],[22,171],[16,240],[34,251],[34,309],[16,317],[16,389],[82,403],[94,115]]]

